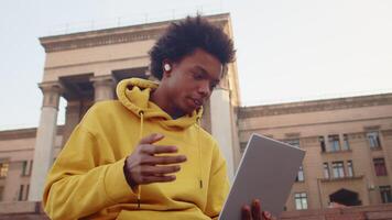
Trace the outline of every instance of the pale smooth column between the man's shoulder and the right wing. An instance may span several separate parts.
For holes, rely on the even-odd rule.
[[[211,134],[218,141],[226,157],[228,177],[233,180],[233,138],[230,91],[216,88],[210,97]]]

